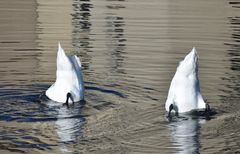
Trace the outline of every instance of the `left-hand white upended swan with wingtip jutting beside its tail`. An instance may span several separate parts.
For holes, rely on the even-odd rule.
[[[45,94],[49,99],[67,105],[84,100],[81,62],[76,55],[67,56],[60,43],[58,43],[56,81]]]

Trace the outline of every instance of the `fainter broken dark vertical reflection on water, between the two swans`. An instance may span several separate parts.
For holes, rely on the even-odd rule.
[[[122,9],[125,8],[123,5],[107,5],[107,8],[110,9],[109,13],[107,13],[106,20],[106,46],[107,51],[109,51],[109,66],[111,66],[110,72],[113,73],[113,76],[125,74],[124,71],[124,61],[126,52],[126,39],[124,36],[124,26],[125,21],[124,18],[119,16],[117,13],[111,12],[111,9]]]

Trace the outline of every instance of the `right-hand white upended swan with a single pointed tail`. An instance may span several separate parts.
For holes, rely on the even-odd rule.
[[[180,62],[171,81],[165,108],[168,116],[172,110],[185,113],[195,109],[210,109],[200,93],[198,54],[195,48]]]

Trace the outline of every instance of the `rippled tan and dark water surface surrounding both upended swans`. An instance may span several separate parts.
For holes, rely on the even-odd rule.
[[[83,65],[86,102],[40,103],[57,43]],[[178,62],[195,46],[211,120],[168,122]],[[0,153],[240,153],[240,3],[0,2]]]

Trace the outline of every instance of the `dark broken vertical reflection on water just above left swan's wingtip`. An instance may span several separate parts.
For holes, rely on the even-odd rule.
[[[73,13],[72,15],[72,40],[75,47],[75,54],[80,56],[84,70],[89,69],[91,57],[91,9],[93,5],[90,0],[73,0]],[[86,61],[86,62],[85,62]]]

